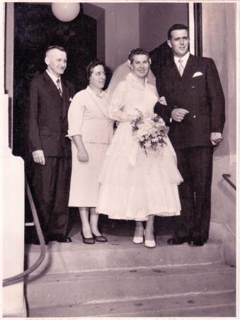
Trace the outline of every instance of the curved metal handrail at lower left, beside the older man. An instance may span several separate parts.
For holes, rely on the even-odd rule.
[[[27,191],[27,194],[28,194],[28,201],[29,201],[29,204],[30,204],[30,208],[31,208],[32,213],[33,213],[33,221],[34,221],[34,224],[35,224],[35,227],[36,227],[36,230],[37,230],[37,234],[38,234],[38,238],[39,238],[39,241],[40,241],[40,256],[38,257],[38,260],[36,260],[35,263],[31,267],[29,267],[27,270],[25,270],[24,272],[21,272],[18,275],[14,275],[13,277],[8,277],[8,278],[4,279],[3,280],[3,286],[13,285],[13,283],[16,283],[16,282],[22,280],[23,277],[25,277],[26,275],[29,275],[31,272],[36,270],[40,266],[40,264],[42,263],[42,261],[45,258],[45,255],[46,255],[45,240],[44,240],[44,237],[43,237],[43,234],[42,234],[42,229],[40,227],[40,223],[39,223],[39,220],[38,220],[38,214],[37,214],[37,211],[35,209],[35,204],[33,202],[33,197],[32,197],[32,194],[30,192],[30,187],[29,187],[29,184],[28,184],[28,181],[27,181],[26,178],[25,178],[25,188],[26,188],[26,191]]]

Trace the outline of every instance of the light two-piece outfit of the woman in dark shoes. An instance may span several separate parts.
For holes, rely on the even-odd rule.
[[[81,135],[88,152],[88,162],[77,160],[77,148],[72,140],[69,206],[94,207],[97,204],[98,176],[113,137],[113,121],[108,118],[108,108],[105,92],[97,95],[90,87],[78,92],[69,106],[68,136]]]

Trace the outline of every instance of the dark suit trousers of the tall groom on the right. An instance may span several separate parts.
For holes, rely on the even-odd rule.
[[[175,236],[193,236],[207,241],[211,213],[212,154],[212,147],[176,150],[183,183],[179,186],[182,210],[174,224]]]

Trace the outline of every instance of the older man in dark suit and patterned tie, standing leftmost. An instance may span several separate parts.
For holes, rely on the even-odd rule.
[[[45,243],[72,242],[66,235],[71,175],[71,143],[66,135],[74,87],[61,77],[67,67],[64,48],[48,48],[45,63],[47,70],[30,84],[28,148],[33,158],[33,199]]]

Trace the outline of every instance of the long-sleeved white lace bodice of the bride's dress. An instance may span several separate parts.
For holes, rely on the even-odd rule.
[[[156,87],[146,79],[143,86],[132,74],[118,84],[113,98],[110,101],[109,117],[116,121],[131,121],[137,115],[137,110],[142,111],[144,116],[154,114],[156,104]]]

